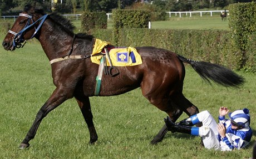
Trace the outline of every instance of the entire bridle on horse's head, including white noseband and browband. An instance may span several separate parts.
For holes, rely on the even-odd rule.
[[[48,17],[48,14],[45,14],[41,18],[37,19],[36,22],[34,22],[34,20],[32,19],[32,16],[30,16],[28,14],[20,13],[19,16],[27,17],[28,20],[27,20],[27,24],[24,26],[24,28],[20,32],[15,33],[12,30],[8,31],[8,33],[15,35],[13,38],[13,47],[15,47],[15,48],[22,48],[24,46],[24,44],[26,44],[26,40],[24,40],[23,34],[24,34],[24,32],[26,32],[28,29],[31,29],[32,27],[35,28],[35,32],[30,39],[35,37],[38,30],[40,30],[40,28],[42,27],[43,22],[45,22],[46,18]],[[32,24],[30,24],[31,22],[32,22]],[[35,25],[37,22],[40,22],[40,24],[36,28]],[[22,45],[23,42],[25,42],[25,43]]]

